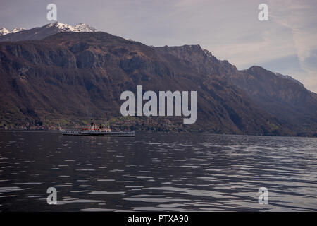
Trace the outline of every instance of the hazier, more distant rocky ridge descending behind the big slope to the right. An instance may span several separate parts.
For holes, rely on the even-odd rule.
[[[317,95],[290,76],[273,73],[261,66],[238,71],[228,61],[218,61],[201,47],[156,47],[168,61],[186,62],[201,73],[216,74],[240,88],[259,108],[292,125],[297,134],[317,129]],[[173,57],[175,59],[173,59]],[[301,128],[301,129],[299,129]]]

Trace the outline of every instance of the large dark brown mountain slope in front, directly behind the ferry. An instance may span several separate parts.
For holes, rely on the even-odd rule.
[[[205,69],[199,62],[104,32],[66,32],[44,40],[1,42],[0,60],[2,123],[67,124],[106,119],[106,113],[120,117],[120,93],[143,85],[154,91],[197,90],[197,123],[185,126],[183,117],[128,121],[137,129],[294,135],[290,125],[226,81],[222,73],[228,69],[211,56],[205,63],[214,65]]]

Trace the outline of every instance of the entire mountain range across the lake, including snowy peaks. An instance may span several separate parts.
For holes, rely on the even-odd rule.
[[[137,130],[317,136],[317,95],[290,76],[260,66],[239,71],[199,45],[149,47],[75,27],[51,23],[0,37],[11,36],[0,40],[0,126],[70,125],[110,115],[113,126]],[[121,117],[120,93],[136,85],[197,90],[197,123]]]

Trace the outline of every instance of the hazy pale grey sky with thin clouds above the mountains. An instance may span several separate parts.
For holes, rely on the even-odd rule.
[[[238,69],[260,65],[298,79],[317,92],[316,0],[0,0],[0,27],[34,28],[57,20],[154,46],[200,44]],[[268,21],[258,6],[268,4]]]

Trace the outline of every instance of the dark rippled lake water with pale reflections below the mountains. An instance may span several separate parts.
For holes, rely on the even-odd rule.
[[[2,131],[0,211],[32,210],[317,210],[317,138]]]

